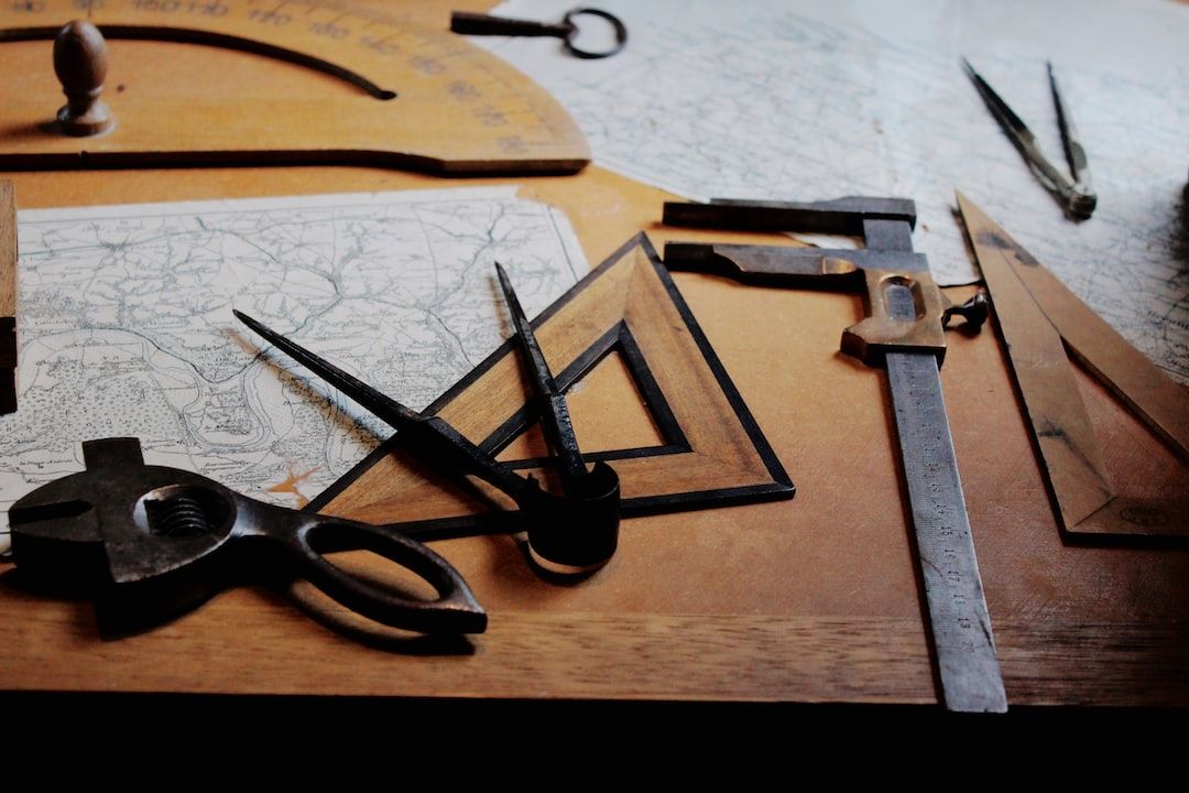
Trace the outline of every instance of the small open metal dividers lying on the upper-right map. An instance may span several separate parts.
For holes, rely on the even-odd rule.
[[[999,126],[1004,128],[1007,138],[1024,157],[1032,172],[1040,180],[1045,189],[1061,201],[1062,207],[1070,216],[1084,220],[1094,213],[1099,196],[1090,187],[1090,170],[1086,158],[1086,150],[1077,140],[1077,130],[1074,127],[1074,119],[1069,114],[1069,108],[1064,100],[1062,100],[1061,89],[1057,87],[1057,76],[1052,70],[1052,63],[1048,63],[1046,65],[1049,69],[1049,88],[1052,90],[1052,101],[1057,106],[1057,126],[1061,128],[1061,143],[1065,150],[1065,161],[1069,163],[1072,180],[1049,162],[1040,151],[1040,146],[1037,145],[1036,137],[1028,130],[1027,125],[995,93],[995,89],[974,70],[970,62],[962,58],[962,68],[965,70],[967,76],[974,82],[975,88],[979,89],[979,94],[982,96],[982,101],[986,102],[987,108],[990,109],[992,115],[999,121]]]

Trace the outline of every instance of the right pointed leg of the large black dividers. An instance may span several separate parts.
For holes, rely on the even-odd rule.
[[[508,272],[503,265],[496,262],[496,275],[499,278],[499,288],[504,292],[504,302],[508,304],[508,313],[512,317],[516,328],[516,341],[528,364],[529,380],[533,384],[533,392],[541,403],[542,427],[546,439],[556,454],[561,471],[562,486],[570,489],[578,477],[586,474],[586,464],[583,462],[581,452],[578,448],[578,438],[574,435],[574,424],[570,417],[570,408],[566,405],[566,397],[553,379],[549,364],[545,360],[541,345],[533,333],[533,326],[521,307],[516,290],[508,278]]]

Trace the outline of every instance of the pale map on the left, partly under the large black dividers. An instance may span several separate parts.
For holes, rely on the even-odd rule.
[[[510,334],[495,260],[530,316],[589,270],[565,215],[515,188],[23,210],[18,228],[5,514],[81,471],[81,441],[118,435],[301,506],[391,430],[262,355],[232,308],[421,409]]]

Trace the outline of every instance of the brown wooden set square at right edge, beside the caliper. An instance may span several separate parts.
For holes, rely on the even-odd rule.
[[[1184,489],[1140,497],[1112,483],[1069,354],[1181,458],[1182,470],[1189,461],[1184,386],[1132,347],[969,199],[958,193],[957,201],[1064,531],[1189,536]]]

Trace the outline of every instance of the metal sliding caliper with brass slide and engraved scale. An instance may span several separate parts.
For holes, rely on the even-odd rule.
[[[930,630],[945,706],[1007,710],[958,476],[939,366],[945,323],[962,314],[977,328],[983,301],[951,306],[912,250],[916,206],[902,199],[847,197],[818,203],[715,200],[668,202],[665,222],[706,228],[767,228],[862,234],[864,250],[759,245],[665,246],[673,270],[743,282],[860,291],[867,319],[842,334],[843,352],[887,370],[907,483]]]

